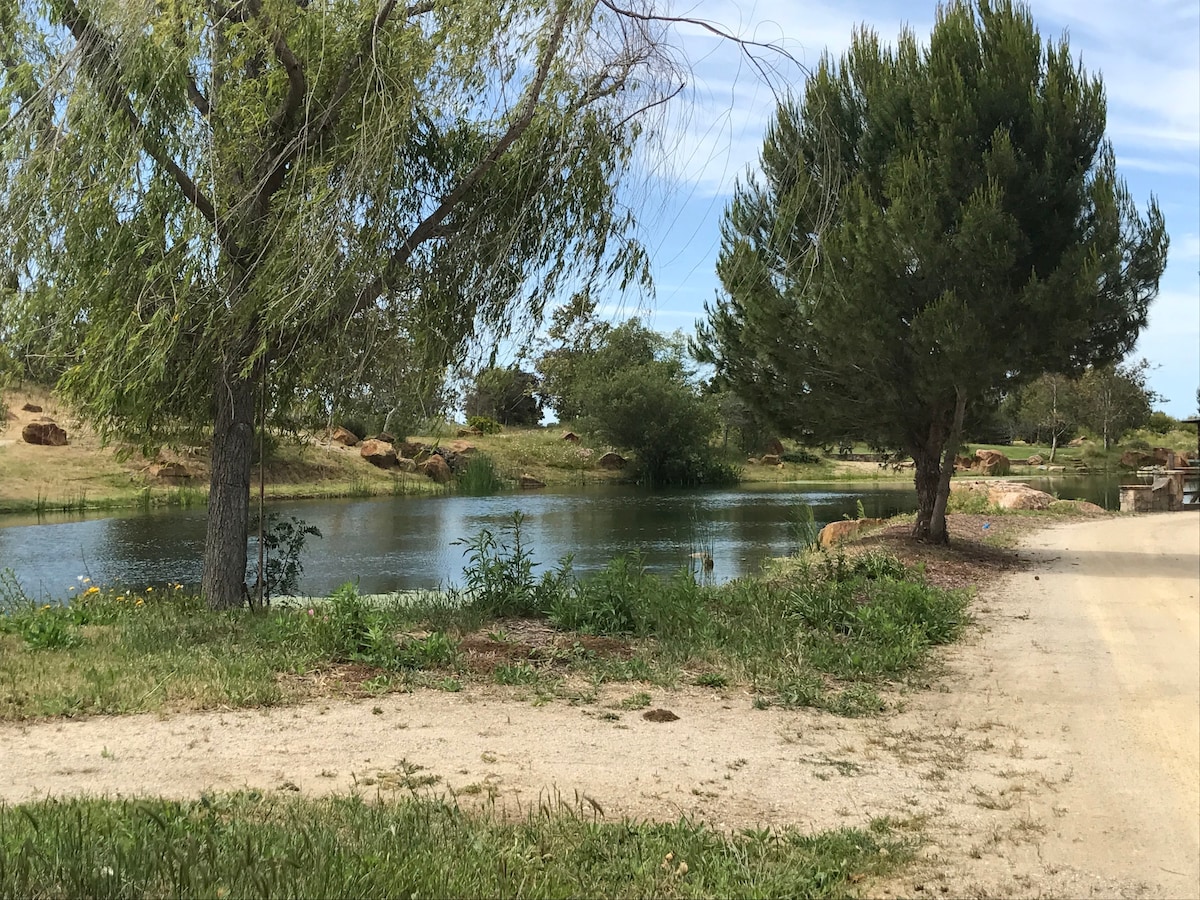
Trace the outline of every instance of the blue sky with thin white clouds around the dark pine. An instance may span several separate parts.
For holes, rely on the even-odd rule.
[[[1109,137],[1118,170],[1139,209],[1157,196],[1171,236],[1168,269],[1134,359],[1153,365],[1151,386],[1172,415],[1195,414],[1200,384],[1200,4],[1195,0],[1034,0],[1043,37],[1067,34],[1072,53],[1104,78]],[[904,25],[918,40],[934,25],[936,4],[904,0],[694,0],[680,16],[718,23],[744,37],[786,47],[805,66],[828,48],[840,55],[857,24],[887,41]],[[762,78],[728,43],[702,30],[677,34],[692,83],[686,102],[664,122],[665,156],[646,178],[640,211],[654,260],[656,296],[612,304],[613,318],[641,312],[664,331],[690,334],[718,288],[719,224],[736,179],[757,160],[774,100]],[[794,66],[779,73],[796,83]],[[677,137],[678,136],[678,137]]]

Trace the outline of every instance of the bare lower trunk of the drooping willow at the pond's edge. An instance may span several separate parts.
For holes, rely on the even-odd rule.
[[[200,592],[211,610],[246,600],[246,528],[250,518],[250,469],[254,443],[254,378],[233,365],[215,385],[212,460],[208,530]]]

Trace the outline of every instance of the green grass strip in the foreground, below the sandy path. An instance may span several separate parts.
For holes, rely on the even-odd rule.
[[[0,805],[0,896],[840,898],[911,856],[884,821],[725,836],[545,800],[508,822],[416,797]]]

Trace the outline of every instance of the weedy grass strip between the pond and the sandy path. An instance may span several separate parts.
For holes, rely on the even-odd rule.
[[[212,612],[182,589],[97,586],[60,605],[8,576],[0,719],[276,706],[316,682],[359,696],[493,683],[571,700],[614,682],[702,684],[749,690],[757,707],[860,715],[965,619],[962,592],[884,553],[820,554],[722,586],[630,558],[535,577],[518,529],[474,541],[463,593],[392,605],[346,587],[308,608]]]

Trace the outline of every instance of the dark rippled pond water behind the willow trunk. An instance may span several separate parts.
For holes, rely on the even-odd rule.
[[[1054,479],[1034,486],[1058,496],[1117,503],[1116,482]],[[916,509],[908,484],[796,484],[728,491],[594,487],[493,497],[401,497],[275,503],[270,511],[320,529],[304,554],[300,593],[326,594],[347,581],[366,593],[462,584],[464,539],[488,529],[505,539],[523,516],[522,544],[541,566],[574,556],[593,571],[622,553],[640,553],[671,572],[708,552],[719,581],[757,572],[764,559],[796,550],[790,523],[811,506],[817,524]],[[79,577],[144,587],[200,577],[204,510],[162,510],[103,518],[0,518],[0,570],[12,569],[30,595],[65,598]],[[253,557],[253,551],[252,551]],[[253,578],[251,577],[250,581]]]

